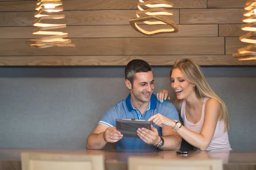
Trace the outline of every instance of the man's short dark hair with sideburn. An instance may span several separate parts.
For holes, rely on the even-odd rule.
[[[135,79],[135,74],[140,72],[152,71],[152,68],[148,62],[142,59],[133,59],[125,67],[125,79],[128,79],[131,82],[133,87],[133,82]]]

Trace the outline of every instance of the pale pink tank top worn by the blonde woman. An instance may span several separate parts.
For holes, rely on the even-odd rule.
[[[208,97],[204,98],[201,119],[196,124],[193,124],[186,119],[186,113],[185,113],[186,101],[183,100],[180,116],[182,117],[184,126],[186,128],[188,128],[189,130],[192,130],[195,133],[198,133],[198,134],[201,133],[201,129],[204,124],[204,109],[208,99],[209,99]],[[206,150],[215,150],[215,149],[232,150],[229,139],[228,139],[227,131],[224,132],[224,128],[225,128],[224,120],[218,121],[214,135],[212,137],[212,141],[210,142]],[[195,147],[195,150],[199,150],[199,149]]]

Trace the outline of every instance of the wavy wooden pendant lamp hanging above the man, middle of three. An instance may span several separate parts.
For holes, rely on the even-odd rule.
[[[179,31],[178,27],[175,25],[174,20],[167,17],[173,15],[172,10],[166,9],[173,7],[173,3],[165,0],[149,0],[146,2],[143,0],[139,1],[140,2],[137,3],[137,7],[140,11],[136,11],[137,18],[132,18],[129,20],[132,28],[144,35],[175,33]],[[144,9],[147,7],[148,9]],[[167,25],[171,28],[146,31],[137,25],[138,22],[143,22],[147,25]]]

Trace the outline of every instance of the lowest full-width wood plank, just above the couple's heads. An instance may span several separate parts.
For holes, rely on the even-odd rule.
[[[1,66],[64,66],[64,65],[126,65],[132,59],[143,59],[150,65],[173,65],[180,58],[193,59],[200,65],[256,65],[253,61],[238,61],[231,55],[207,56],[0,56]]]

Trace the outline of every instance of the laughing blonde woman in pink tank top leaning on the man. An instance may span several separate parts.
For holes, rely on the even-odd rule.
[[[148,120],[158,126],[172,127],[196,150],[232,150],[227,133],[230,127],[227,107],[208,85],[200,66],[192,59],[179,59],[170,71],[170,78],[177,94],[174,105],[184,125],[160,113]],[[157,98],[170,99],[165,90],[157,93]]]

